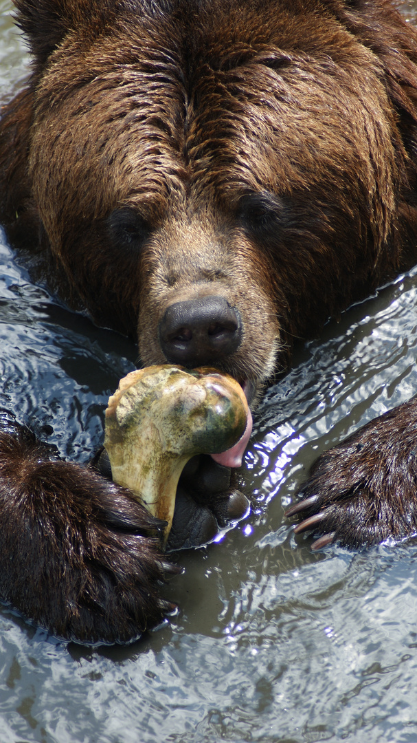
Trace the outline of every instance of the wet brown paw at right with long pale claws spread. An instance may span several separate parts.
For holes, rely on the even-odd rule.
[[[417,401],[381,415],[324,452],[286,516],[295,533],[321,534],[320,549],[338,540],[358,548],[417,533]]]

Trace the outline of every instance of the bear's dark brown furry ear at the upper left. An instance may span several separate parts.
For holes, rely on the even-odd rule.
[[[117,0],[13,0],[16,22],[39,62],[45,62],[70,30],[100,33],[114,17]]]

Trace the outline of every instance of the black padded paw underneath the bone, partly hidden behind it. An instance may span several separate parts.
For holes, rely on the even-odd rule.
[[[111,479],[105,450],[93,460],[103,476]],[[249,501],[239,489],[238,476],[209,455],[197,455],[185,465],[177,487],[174,519],[167,551],[200,547],[228,523],[246,516]]]

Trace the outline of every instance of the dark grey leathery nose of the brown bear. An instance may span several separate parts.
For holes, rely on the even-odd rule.
[[[236,351],[240,314],[223,296],[175,302],[160,322],[160,345],[170,363],[194,367],[215,363]]]

